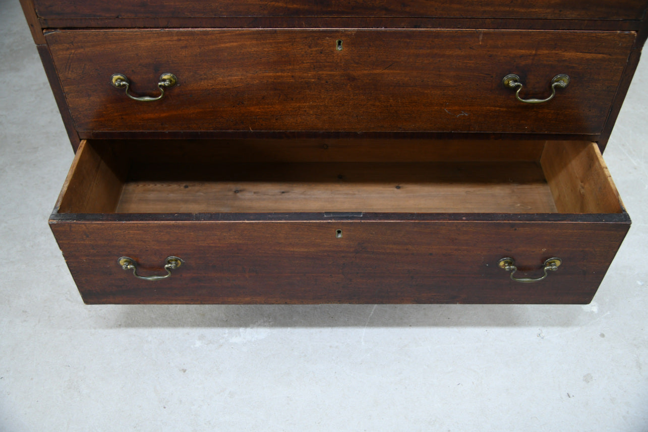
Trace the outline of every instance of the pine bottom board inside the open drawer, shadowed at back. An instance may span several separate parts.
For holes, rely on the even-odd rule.
[[[117,212],[555,212],[535,162],[156,164],[132,176]]]

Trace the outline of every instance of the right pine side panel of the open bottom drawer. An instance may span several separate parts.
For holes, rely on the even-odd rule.
[[[619,213],[621,198],[595,142],[548,141],[540,159],[561,213]]]

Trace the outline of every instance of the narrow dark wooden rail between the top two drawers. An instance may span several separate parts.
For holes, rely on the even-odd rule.
[[[43,28],[491,28],[639,30],[641,21],[417,17],[117,17],[41,18]]]

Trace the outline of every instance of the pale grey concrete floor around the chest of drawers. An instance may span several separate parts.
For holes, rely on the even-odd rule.
[[[633,225],[588,306],[85,306],[15,0],[0,76],[0,431],[648,431],[646,58],[605,152]]]

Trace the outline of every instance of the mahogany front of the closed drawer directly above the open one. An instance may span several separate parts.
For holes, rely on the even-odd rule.
[[[600,133],[633,32],[95,30],[47,34],[80,137],[123,131]],[[341,41],[341,42],[338,42]],[[135,97],[111,85],[120,73]],[[571,81],[553,100],[551,79]]]

